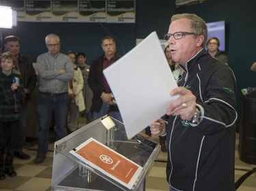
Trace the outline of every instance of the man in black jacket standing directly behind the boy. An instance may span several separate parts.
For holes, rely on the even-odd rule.
[[[20,125],[16,131],[16,148],[14,156],[22,160],[29,160],[30,156],[23,152],[23,143],[25,141],[26,132],[26,117],[27,117],[27,103],[29,102],[30,94],[38,82],[38,77],[35,74],[32,60],[20,54],[20,40],[14,35],[5,37],[4,39],[5,51],[11,52],[16,56],[18,65],[13,69],[14,73],[20,74],[23,79],[25,99],[23,99],[23,111],[20,118]]]

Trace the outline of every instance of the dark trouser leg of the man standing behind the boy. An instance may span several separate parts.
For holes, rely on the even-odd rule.
[[[23,104],[23,110],[20,117],[20,124],[16,129],[16,143],[14,152],[22,152],[23,151],[23,143],[25,141],[25,133],[26,133],[26,118],[27,118],[27,108],[28,103]]]

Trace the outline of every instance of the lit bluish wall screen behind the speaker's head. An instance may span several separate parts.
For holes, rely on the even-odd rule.
[[[225,52],[225,21],[207,22],[208,39],[210,37],[217,37],[220,41],[219,50]],[[207,49],[207,46],[206,46]]]

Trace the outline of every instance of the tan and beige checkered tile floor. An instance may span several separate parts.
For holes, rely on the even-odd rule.
[[[238,136],[236,147],[238,147]],[[51,143],[49,148],[53,148],[53,143]],[[14,158],[14,168],[18,176],[12,178],[7,177],[5,180],[0,181],[0,191],[50,191],[53,152],[48,152],[46,160],[42,164],[33,163],[36,156],[35,146],[24,148],[24,152],[31,155],[31,160],[19,160]],[[169,190],[169,186],[165,180],[166,159],[167,154],[160,152],[150,173],[147,175],[146,191]],[[238,152],[236,152],[236,181],[244,175],[247,170],[251,170],[255,167],[256,165],[242,162],[238,157]],[[255,173],[243,182],[238,188],[238,191],[256,191]]]

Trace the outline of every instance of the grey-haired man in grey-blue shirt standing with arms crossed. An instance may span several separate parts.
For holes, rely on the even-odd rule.
[[[38,67],[38,154],[35,164],[44,162],[48,151],[48,133],[52,114],[55,116],[56,140],[67,135],[68,81],[74,77],[70,58],[59,52],[60,40],[55,34],[45,38],[48,52],[37,59]]]

